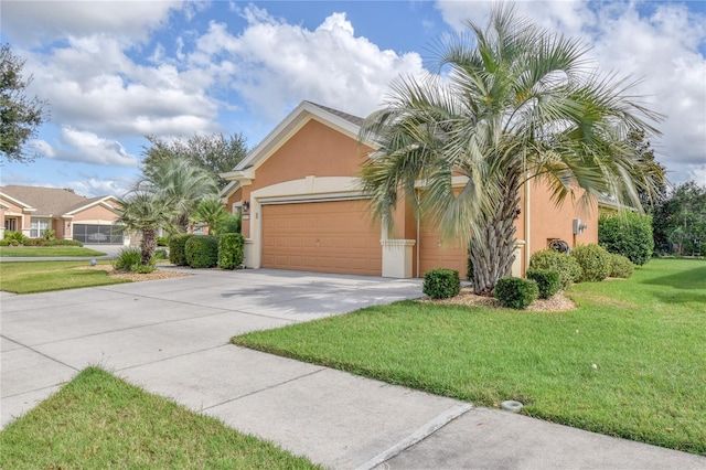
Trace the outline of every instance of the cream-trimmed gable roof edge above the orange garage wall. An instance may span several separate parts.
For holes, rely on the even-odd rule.
[[[363,118],[347,113],[319,105],[313,102],[301,102],[285,119],[272,129],[261,142],[253,148],[248,154],[226,173],[221,173],[221,178],[232,180],[221,190],[221,196],[227,197],[239,188],[235,178],[248,178],[254,175],[254,170],[263,161],[272,154],[293,132],[310,119],[317,119],[336,130],[357,139],[357,135],[363,125]]]

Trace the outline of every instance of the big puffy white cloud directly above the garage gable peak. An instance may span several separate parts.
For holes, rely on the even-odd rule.
[[[248,21],[245,30],[233,35],[212,22],[190,61],[274,121],[303,99],[364,116],[381,105],[393,78],[421,72],[419,54],[382,51],[355,36],[345,13],[310,31],[255,7],[238,11]]]

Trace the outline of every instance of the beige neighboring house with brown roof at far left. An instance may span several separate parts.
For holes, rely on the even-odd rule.
[[[0,239],[4,231],[40,238],[53,229],[56,238],[84,244],[124,244],[116,225],[118,199],[84,197],[67,190],[39,186],[0,186]]]

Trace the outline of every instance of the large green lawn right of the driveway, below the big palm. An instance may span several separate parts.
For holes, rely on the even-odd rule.
[[[706,263],[574,286],[578,309],[397,302],[233,339],[275,354],[706,455]],[[592,367],[597,365],[597,368]]]

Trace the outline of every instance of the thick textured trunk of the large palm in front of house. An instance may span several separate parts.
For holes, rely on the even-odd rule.
[[[520,214],[520,175],[511,171],[503,185],[503,197],[484,217],[481,233],[471,242],[473,291],[492,296],[501,277],[510,276],[515,260],[515,220]]]

